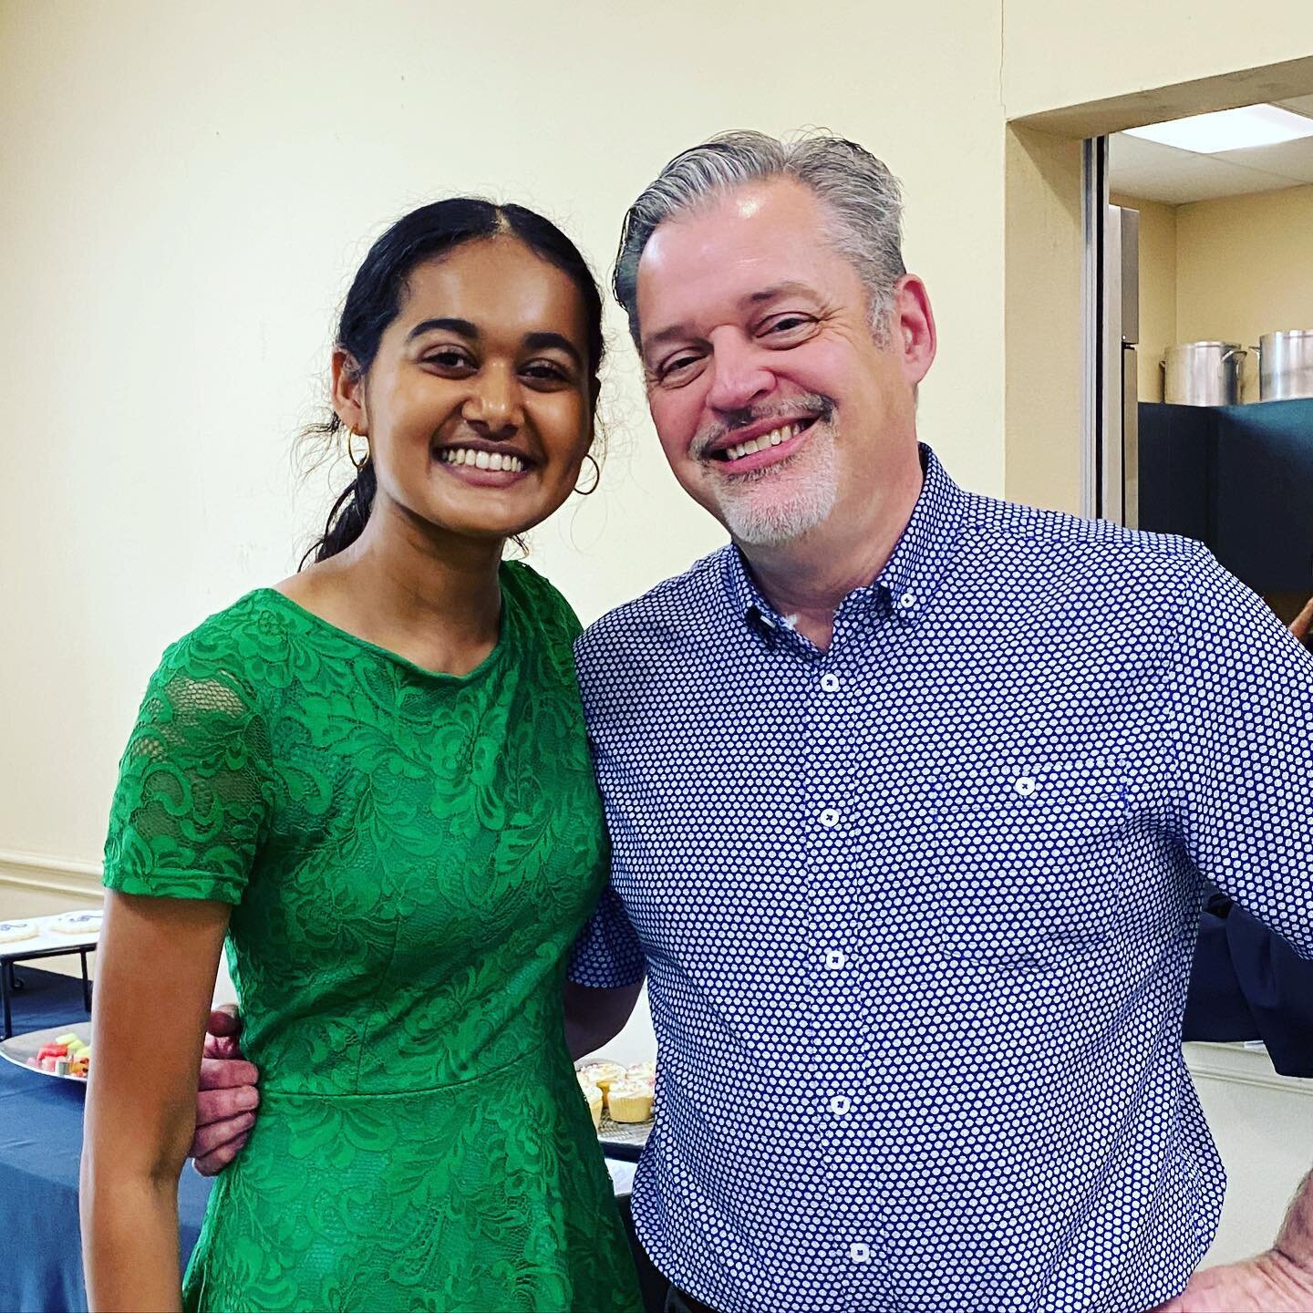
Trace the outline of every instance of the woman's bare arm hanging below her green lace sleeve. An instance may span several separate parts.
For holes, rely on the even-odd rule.
[[[230,913],[106,893],[81,1158],[92,1313],[181,1308],[177,1178]]]

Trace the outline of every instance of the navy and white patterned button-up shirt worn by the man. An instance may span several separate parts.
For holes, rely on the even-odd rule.
[[[1199,544],[924,487],[822,653],[734,548],[578,642],[647,973],[634,1221],[723,1313],[1141,1310],[1225,1176],[1205,880],[1313,956],[1313,659]]]

